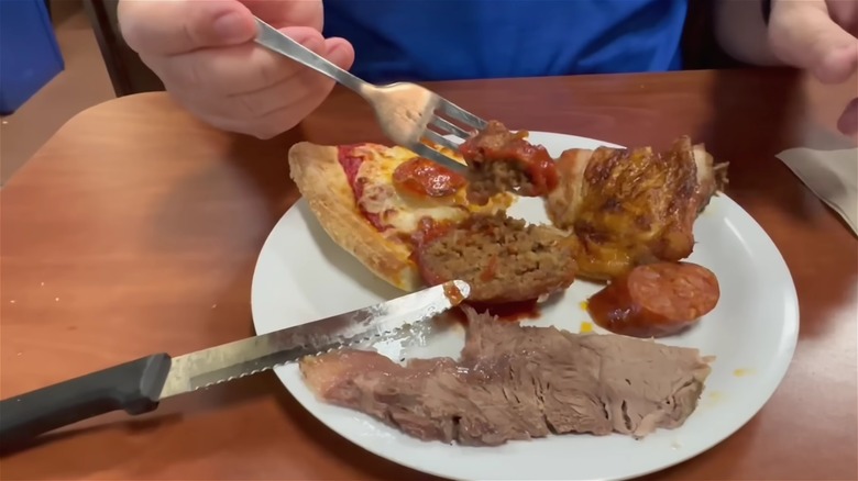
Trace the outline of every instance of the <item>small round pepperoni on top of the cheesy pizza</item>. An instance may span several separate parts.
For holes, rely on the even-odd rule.
[[[422,157],[400,164],[393,181],[399,191],[433,198],[452,195],[465,184],[464,177]]]

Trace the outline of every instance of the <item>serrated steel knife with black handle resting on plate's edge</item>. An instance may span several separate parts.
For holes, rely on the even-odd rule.
[[[0,402],[0,443],[21,443],[112,411],[154,411],[166,398],[254,374],[305,356],[381,337],[459,305],[471,287],[450,281],[381,304],[184,356],[161,353]]]

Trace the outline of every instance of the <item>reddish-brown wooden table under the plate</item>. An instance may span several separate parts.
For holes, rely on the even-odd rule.
[[[788,70],[433,88],[510,127],[658,146],[689,133],[729,160],[729,194],[792,271],[801,342],[759,415],[652,479],[858,479],[858,242],[773,157],[844,142],[831,126],[854,90],[822,89]],[[300,130],[270,142],[215,132],[164,94],[118,99],[73,119],[0,194],[0,394],[250,335],[251,273],[298,197],[285,156],[301,137],[383,141],[369,109],[342,91]],[[270,372],[169,400],[145,420],[110,416],[50,436],[6,455],[1,469],[9,480],[426,478],[324,428]]]

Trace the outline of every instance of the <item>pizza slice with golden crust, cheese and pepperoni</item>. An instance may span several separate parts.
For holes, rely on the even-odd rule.
[[[446,155],[462,164],[458,153]],[[380,144],[289,149],[290,176],[322,228],[340,247],[405,291],[427,283],[416,249],[473,214],[505,211],[514,195],[481,204],[468,199],[468,179],[404,147]]]

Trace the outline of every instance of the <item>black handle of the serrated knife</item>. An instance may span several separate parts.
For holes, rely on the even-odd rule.
[[[144,358],[0,401],[4,447],[111,411],[154,411],[169,373],[167,354]]]

